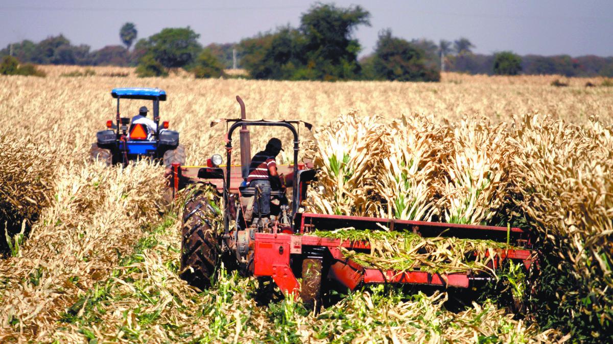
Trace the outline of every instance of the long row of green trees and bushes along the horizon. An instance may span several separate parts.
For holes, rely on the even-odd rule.
[[[91,51],[88,45],[72,45],[59,35],[39,43],[12,43],[0,50],[0,57],[13,56],[24,64],[136,66],[142,77],[165,76],[176,68],[189,70],[196,77],[222,77],[223,70],[232,67],[233,50],[250,77],[271,80],[438,81],[441,70],[613,77],[613,57],[519,56],[511,51],[475,54],[474,44],[464,37],[438,43],[406,40],[394,36],[390,29],[379,32],[373,53],[358,59],[362,47],[354,32],[359,26],[370,26],[370,17],[361,6],[318,3],[302,14],[296,28],[283,26],[238,43],[207,47],[200,45],[200,35],[189,26],[165,28],[137,40],[135,25],[126,23],[120,29],[123,45]]]

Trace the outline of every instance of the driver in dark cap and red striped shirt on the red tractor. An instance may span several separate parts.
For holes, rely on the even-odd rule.
[[[253,214],[262,214],[262,217],[270,215],[270,191],[272,189],[285,191],[284,183],[276,171],[276,155],[281,148],[281,140],[276,137],[268,140],[264,151],[257,152],[249,164],[247,184],[260,190],[259,202],[253,204]]]

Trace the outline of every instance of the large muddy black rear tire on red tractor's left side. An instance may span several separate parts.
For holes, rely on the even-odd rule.
[[[188,201],[183,211],[180,277],[200,290],[211,285],[221,254],[211,215],[215,210],[203,194]]]

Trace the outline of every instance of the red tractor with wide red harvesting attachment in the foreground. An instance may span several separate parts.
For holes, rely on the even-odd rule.
[[[245,119],[245,105],[241,105],[242,118],[228,119],[226,136],[226,166],[221,166],[221,155],[213,155],[208,166],[180,167],[173,165],[171,186],[175,191],[188,184],[213,185],[223,202],[215,204],[215,197],[196,194],[186,203],[183,214],[183,242],[181,277],[189,283],[205,288],[210,285],[221,260],[226,266],[237,267],[243,275],[272,280],[283,293],[301,297],[305,305],[320,303],[322,285],[344,286],[354,290],[368,283],[405,283],[430,285],[441,288],[473,288],[489,277],[473,272],[436,274],[419,270],[394,271],[361,266],[343,254],[343,249],[369,253],[367,241],[349,241],[313,235],[314,230],[332,231],[339,228],[411,231],[423,237],[461,237],[491,239],[510,242],[522,249],[497,249],[489,267],[500,269],[506,260],[522,263],[529,269],[535,263],[530,250],[527,231],[520,228],[498,226],[459,225],[452,223],[421,222],[346,215],[311,214],[303,208],[316,170],[309,163],[298,160],[299,126],[311,125],[302,121],[250,121]],[[290,165],[280,165],[291,201],[278,208],[270,218],[257,219],[245,214],[246,200],[258,196],[258,190],[246,187],[247,166],[251,157],[248,127],[284,127],[294,136],[294,159]],[[241,165],[231,166],[232,138],[240,131]],[[291,190],[291,191],[290,191]],[[283,197],[273,191],[271,197]],[[223,219],[223,231],[215,231],[213,219]],[[221,227],[221,222],[219,222]],[[321,233],[321,232],[320,232]],[[220,259],[221,257],[221,259]],[[301,281],[301,282],[300,282]]]

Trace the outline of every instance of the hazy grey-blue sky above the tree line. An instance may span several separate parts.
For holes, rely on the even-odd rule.
[[[326,2],[326,1],[324,1]],[[121,44],[119,30],[135,24],[138,38],[163,28],[190,26],[200,43],[230,43],[290,24],[314,2],[299,0],[236,1],[77,1],[0,0],[0,48],[29,39],[39,42],[64,34],[72,44],[92,50]],[[378,32],[407,40],[468,38],[475,53],[511,50],[519,54],[595,54],[613,56],[613,1],[334,1],[359,5],[371,13],[371,26],[354,32],[369,54]]]

